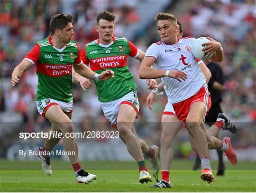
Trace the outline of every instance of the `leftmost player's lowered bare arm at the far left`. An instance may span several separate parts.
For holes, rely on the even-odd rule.
[[[19,82],[19,79],[23,72],[25,72],[28,68],[32,67],[33,63],[28,61],[27,59],[23,59],[17,67],[14,68],[11,74],[11,85],[15,86]]]

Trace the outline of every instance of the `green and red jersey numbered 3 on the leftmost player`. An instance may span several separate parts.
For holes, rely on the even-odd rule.
[[[37,42],[26,58],[37,66],[37,101],[55,99],[69,102],[73,99],[72,65],[81,65],[80,49],[75,41],[57,49],[51,42],[51,35]]]

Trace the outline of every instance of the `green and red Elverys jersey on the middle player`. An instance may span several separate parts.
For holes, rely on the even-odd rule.
[[[113,37],[109,45],[102,45],[98,39],[83,48],[81,59],[86,65],[90,63],[91,70],[100,74],[111,69],[115,73],[115,77],[107,81],[94,81],[99,101],[114,101],[136,90],[137,86],[127,67],[128,56],[136,58],[138,49],[125,37]]]

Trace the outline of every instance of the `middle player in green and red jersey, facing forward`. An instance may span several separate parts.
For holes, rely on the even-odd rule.
[[[137,86],[127,66],[127,57],[131,56],[140,61],[145,53],[129,42],[125,37],[114,37],[115,16],[107,11],[101,11],[97,16],[96,31],[99,39],[86,44],[82,50],[81,58],[84,64],[91,66],[96,73],[112,70],[115,78],[107,81],[95,81],[99,101],[105,117],[112,127],[119,131],[121,139],[126,143],[128,152],[139,166],[139,182],[151,181],[143,153],[151,158],[153,169],[160,167],[157,154],[158,147],[148,145],[137,137],[133,122],[137,117],[139,102],[137,99]],[[148,80],[149,87],[155,88],[155,80]]]

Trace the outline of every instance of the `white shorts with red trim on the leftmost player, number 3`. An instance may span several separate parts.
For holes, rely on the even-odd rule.
[[[36,101],[36,104],[37,104],[37,111],[43,117],[45,117],[46,110],[49,109],[53,105],[59,105],[60,108],[66,113],[73,112],[73,100],[71,100],[69,102],[62,102],[62,101],[57,101],[54,99],[44,99],[42,101]]]

